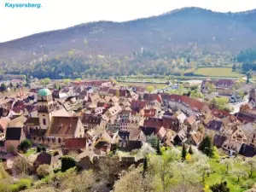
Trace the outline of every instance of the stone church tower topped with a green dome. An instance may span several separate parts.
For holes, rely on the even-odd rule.
[[[46,130],[54,111],[54,102],[51,91],[41,89],[38,91],[38,118],[41,129]]]

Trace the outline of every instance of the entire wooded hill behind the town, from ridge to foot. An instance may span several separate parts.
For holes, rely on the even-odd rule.
[[[256,9],[217,13],[184,8],[126,22],[99,21],[0,44],[0,75],[63,79],[194,75],[230,67],[256,46]],[[2,76],[1,76],[2,77]],[[1,79],[0,77],[0,79]]]

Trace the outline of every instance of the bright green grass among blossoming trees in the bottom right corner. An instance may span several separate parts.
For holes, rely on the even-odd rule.
[[[220,183],[222,180],[228,183],[228,187],[232,192],[241,192],[244,191],[245,188],[243,186],[247,185],[247,178],[240,178],[240,182],[237,183],[237,177],[234,174],[228,173],[225,175],[225,166],[218,163],[216,160],[211,159],[209,161],[210,166],[212,167],[213,173],[210,174],[210,177],[206,177],[206,184],[211,186],[214,183]],[[247,167],[241,166],[240,164],[236,164],[235,167],[237,169],[243,169],[246,172],[249,172]],[[256,183],[256,172],[253,173],[253,182]]]

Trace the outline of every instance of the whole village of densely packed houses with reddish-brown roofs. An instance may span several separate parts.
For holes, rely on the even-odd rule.
[[[116,151],[132,154],[152,139],[166,148],[198,148],[210,137],[227,158],[256,155],[256,90],[251,83],[237,87],[234,79],[205,79],[199,84],[206,97],[241,102],[237,113],[201,98],[148,91],[114,79],[59,82],[58,89],[54,81],[31,81],[29,87],[17,79],[6,84],[7,92],[19,87],[1,97],[0,108],[1,154],[13,177],[17,157],[33,170],[45,164],[56,170],[61,157],[74,153],[76,164],[89,169]],[[128,167],[142,163],[143,157],[122,156],[119,161]]]

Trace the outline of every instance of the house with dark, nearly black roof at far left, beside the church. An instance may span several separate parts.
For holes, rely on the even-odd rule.
[[[5,135],[5,149],[8,153],[17,154],[18,146],[26,139],[21,127],[8,127]]]

